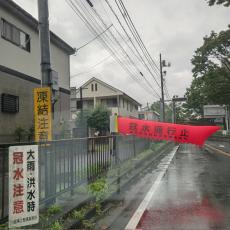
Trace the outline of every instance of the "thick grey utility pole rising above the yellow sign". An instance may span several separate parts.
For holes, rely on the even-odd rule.
[[[41,49],[42,86],[50,86],[50,31],[48,0],[38,0],[39,37]]]

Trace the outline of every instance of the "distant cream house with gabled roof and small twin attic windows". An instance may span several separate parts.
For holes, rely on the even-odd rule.
[[[82,89],[82,109],[93,109],[96,105],[102,104],[111,110],[112,115],[138,117],[138,107],[141,106],[139,102],[121,90],[95,77],[76,89],[76,98],[74,99],[73,97],[71,102],[73,105],[72,111],[79,111],[81,109],[80,89]],[[76,105],[76,109],[74,105]],[[73,118],[74,114],[75,112],[72,113]]]

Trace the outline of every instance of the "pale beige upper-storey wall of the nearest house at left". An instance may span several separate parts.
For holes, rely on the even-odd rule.
[[[40,43],[36,31],[20,22],[16,17],[0,8],[0,18],[14,24],[31,37],[30,52],[6,41],[0,37],[0,65],[19,71],[34,78],[41,78],[40,70]],[[5,54],[5,55],[2,55]],[[58,72],[59,86],[65,89],[70,87],[69,55],[60,48],[51,44],[51,66]]]

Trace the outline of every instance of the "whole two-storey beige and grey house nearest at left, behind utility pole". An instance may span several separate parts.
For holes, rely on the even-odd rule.
[[[58,73],[54,134],[70,119],[70,55],[75,50],[50,32],[51,67]],[[18,127],[33,126],[33,89],[41,85],[38,21],[11,0],[0,1],[0,142],[13,141]],[[58,130],[58,129],[57,129]]]

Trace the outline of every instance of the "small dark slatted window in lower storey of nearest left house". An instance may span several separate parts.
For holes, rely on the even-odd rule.
[[[18,113],[19,97],[3,93],[1,98],[1,111],[3,113]]]

